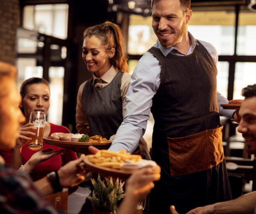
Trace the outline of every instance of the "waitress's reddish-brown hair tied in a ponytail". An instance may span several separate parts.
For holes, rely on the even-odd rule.
[[[111,48],[115,48],[115,56],[110,59],[110,63],[116,70],[129,72],[127,57],[123,51],[123,34],[118,25],[109,21],[94,25],[84,31],[84,39],[87,36],[99,38],[107,51],[110,51]]]

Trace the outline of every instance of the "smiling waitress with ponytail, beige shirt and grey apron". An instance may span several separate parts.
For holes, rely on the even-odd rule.
[[[119,26],[107,21],[87,28],[82,51],[92,78],[78,89],[76,129],[81,134],[102,135],[112,140],[123,121],[131,77]],[[150,159],[143,138],[139,148],[142,157]]]

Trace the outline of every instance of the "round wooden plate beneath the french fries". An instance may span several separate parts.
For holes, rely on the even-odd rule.
[[[120,179],[127,179],[129,176],[131,176],[132,171],[126,171],[122,169],[112,169],[112,168],[107,168],[103,166],[97,166],[94,163],[91,163],[89,161],[89,156],[91,155],[86,155],[84,157],[84,163],[86,165],[86,170],[91,171],[93,173],[99,173],[100,176],[103,177],[115,177],[115,178],[120,178]]]

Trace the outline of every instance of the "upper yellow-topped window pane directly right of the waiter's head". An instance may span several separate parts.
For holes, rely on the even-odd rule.
[[[194,11],[188,31],[196,39],[211,43],[219,55],[234,54],[235,12]]]

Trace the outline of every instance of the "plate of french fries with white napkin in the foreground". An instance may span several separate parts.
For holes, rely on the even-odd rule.
[[[99,173],[104,177],[114,176],[125,179],[141,167],[138,163],[145,161],[147,160],[143,160],[141,155],[126,153],[124,149],[120,152],[100,150],[95,155],[84,157],[84,163],[89,171]],[[151,165],[152,162],[148,165]],[[156,165],[155,162],[154,164]]]

